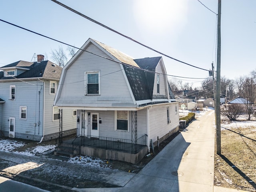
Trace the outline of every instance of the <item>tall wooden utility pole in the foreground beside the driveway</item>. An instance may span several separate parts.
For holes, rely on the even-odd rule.
[[[218,39],[217,39],[217,71],[216,71],[216,152],[221,154],[221,131],[220,131],[220,15],[221,0],[218,0]]]

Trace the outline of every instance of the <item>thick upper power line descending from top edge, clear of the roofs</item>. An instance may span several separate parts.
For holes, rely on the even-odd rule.
[[[80,16],[82,16],[82,17],[84,17],[84,18],[86,18],[86,19],[88,19],[88,20],[90,20],[90,21],[92,21],[92,22],[94,22],[94,23],[96,23],[96,24],[98,24],[98,25],[100,25],[100,26],[102,26],[102,27],[104,27],[104,28],[110,30],[110,31],[112,31],[112,32],[115,32],[115,33],[117,33],[117,34],[119,34],[119,35],[121,35],[121,36],[123,36],[123,37],[129,39],[129,40],[132,40],[133,42],[136,42],[137,44],[140,44],[141,46],[144,46],[144,47],[146,47],[146,48],[148,48],[148,49],[150,49],[150,50],[152,50],[152,51],[154,51],[154,52],[157,52],[157,53],[159,53],[159,54],[161,54],[161,55],[163,55],[163,56],[166,56],[166,57],[168,57],[168,58],[170,58],[170,59],[176,60],[176,61],[181,62],[181,63],[183,63],[183,64],[186,64],[186,65],[189,65],[189,66],[192,66],[192,67],[201,69],[201,70],[206,70],[206,69],[203,69],[203,68],[200,68],[200,67],[197,67],[197,66],[188,64],[188,63],[183,62],[183,61],[181,61],[181,60],[175,59],[175,58],[173,58],[173,57],[171,57],[171,56],[168,56],[168,55],[166,55],[166,54],[164,54],[164,53],[162,53],[162,52],[160,52],[160,51],[157,51],[157,50],[155,50],[155,49],[153,49],[153,48],[151,48],[151,47],[149,47],[149,46],[146,46],[146,45],[144,45],[144,44],[138,42],[137,40],[134,40],[134,39],[132,39],[132,38],[130,38],[130,37],[128,37],[128,36],[126,36],[126,35],[124,35],[124,34],[118,32],[118,31],[116,31],[116,30],[114,30],[114,29],[112,29],[112,28],[110,28],[110,27],[108,27],[108,26],[106,26],[106,25],[104,25],[104,24],[102,24],[102,23],[100,23],[100,22],[98,22],[98,21],[96,21],[96,20],[94,20],[94,19],[92,19],[92,18],[90,18],[90,17],[88,17],[88,16],[86,16],[86,15],[84,15],[84,14],[82,14],[82,13],[76,11],[76,10],[74,10],[74,9],[72,9],[72,8],[70,8],[69,6],[66,6],[65,4],[62,4],[61,2],[58,2],[58,1],[56,1],[56,0],[51,0],[51,1],[55,2],[56,4],[59,4],[60,6],[63,6],[64,8],[66,8],[66,9],[68,9],[68,10],[70,10],[70,11],[72,11],[72,12],[74,12],[74,13],[76,13],[76,14],[78,14],[78,15],[80,15]],[[209,70],[206,70],[206,71],[209,71]]]

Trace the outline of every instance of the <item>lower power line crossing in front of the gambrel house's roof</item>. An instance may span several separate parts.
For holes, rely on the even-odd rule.
[[[26,30],[26,31],[28,31],[28,32],[32,32],[32,33],[37,34],[37,35],[39,35],[39,36],[42,36],[42,37],[48,38],[48,39],[50,39],[50,40],[54,40],[54,41],[56,41],[56,42],[59,42],[59,43],[65,44],[65,45],[67,45],[67,46],[71,46],[71,47],[76,48],[76,49],[78,49],[78,50],[82,50],[82,51],[84,51],[84,52],[88,52],[88,53],[90,53],[90,54],[93,54],[93,55],[99,56],[99,57],[101,57],[101,58],[104,58],[104,59],[107,59],[107,60],[110,60],[110,61],[113,61],[113,62],[116,62],[116,63],[119,63],[119,64],[124,64],[124,65],[129,66],[129,67],[132,67],[132,68],[137,68],[137,67],[135,67],[135,66],[130,66],[130,65],[126,64],[126,63],[118,62],[118,61],[112,60],[112,59],[110,59],[110,58],[106,58],[106,57],[104,57],[104,56],[101,56],[101,55],[98,55],[98,54],[95,54],[95,53],[92,53],[92,52],[89,52],[89,51],[83,50],[83,49],[81,49],[81,48],[77,48],[77,47],[72,46],[72,45],[70,45],[70,44],[67,44],[67,43],[65,43],[65,42],[62,42],[62,41],[56,40],[56,39],[54,39],[54,38],[51,38],[51,37],[45,36],[45,35],[43,35],[43,34],[40,34],[40,33],[34,32],[34,31],[32,31],[32,30],[29,30],[29,29],[26,29],[26,28],[24,28],[24,27],[18,26],[18,25],[16,25],[16,24],[12,24],[12,23],[7,22],[7,21],[5,21],[5,20],[0,19],[0,21],[5,22],[5,23],[7,23],[7,24],[10,24],[10,25],[12,25],[12,26],[15,26],[15,27],[21,28],[21,29]],[[157,73],[157,72],[149,71],[149,70],[142,69],[142,68],[137,68],[137,69],[144,70],[144,71],[151,72],[151,73]],[[207,71],[208,71],[208,70],[207,70]],[[161,73],[157,73],[157,74],[161,74]],[[179,77],[179,78],[189,78],[189,77],[181,77],[181,76],[174,76],[174,75],[168,75],[168,74],[162,74],[162,75],[166,75],[166,76],[173,76],[173,77]],[[205,78],[189,78],[189,79],[205,79]]]

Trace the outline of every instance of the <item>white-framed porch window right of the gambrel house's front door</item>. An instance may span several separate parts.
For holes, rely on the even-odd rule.
[[[116,130],[128,131],[128,111],[115,111]]]

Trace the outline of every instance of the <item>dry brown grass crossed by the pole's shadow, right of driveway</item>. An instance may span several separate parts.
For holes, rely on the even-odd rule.
[[[214,185],[256,191],[256,128],[221,132],[221,155],[215,155]]]

